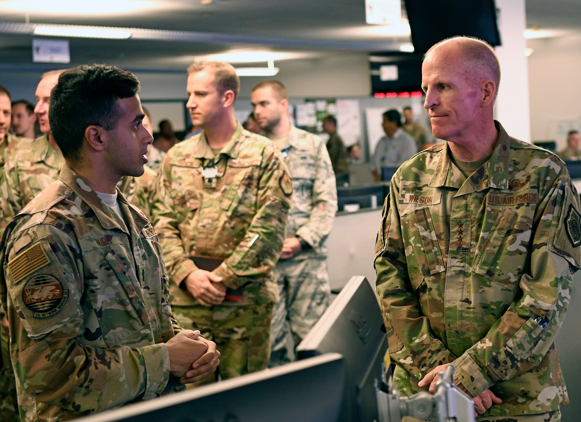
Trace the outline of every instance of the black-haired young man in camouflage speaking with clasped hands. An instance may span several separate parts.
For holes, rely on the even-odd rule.
[[[183,331],[171,315],[155,231],[106,179],[143,168],[152,138],[140,126],[138,89],[134,75],[103,65],[60,76],[51,125],[66,164],[2,237],[0,298],[24,421],[73,419],[181,389],[210,373],[199,373],[205,365],[200,359],[212,354],[213,343]],[[110,129],[87,123],[104,114],[90,105],[71,113],[87,99],[102,104],[117,95],[126,97],[116,100],[117,116],[106,115],[114,122]],[[98,149],[89,133],[98,134],[91,138]],[[102,142],[110,142],[107,151],[128,153],[112,154],[118,160],[112,164]],[[94,166],[83,165],[87,161],[77,154],[91,154]],[[107,205],[91,186],[114,190],[116,205]],[[192,371],[195,362],[201,366]]]

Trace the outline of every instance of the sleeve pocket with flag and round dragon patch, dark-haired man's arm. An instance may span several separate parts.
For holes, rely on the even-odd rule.
[[[10,259],[7,287],[28,337],[36,339],[80,317],[72,272],[64,271],[46,238]]]

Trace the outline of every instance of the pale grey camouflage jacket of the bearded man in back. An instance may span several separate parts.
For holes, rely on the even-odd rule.
[[[294,258],[326,257],[325,240],[337,212],[337,186],[327,146],[317,135],[292,127],[281,150],[293,187],[286,237],[300,237],[310,246]]]

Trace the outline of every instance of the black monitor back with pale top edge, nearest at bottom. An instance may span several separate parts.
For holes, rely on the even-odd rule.
[[[336,422],[345,361],[338,354],[168,394],[83,422]]]

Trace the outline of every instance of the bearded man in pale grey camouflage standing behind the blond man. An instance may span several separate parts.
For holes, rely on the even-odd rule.
[[[290,362],[289,332],[298,345],[329,306],[325,240],[337,211],[337,189],[325,143],[290,124],[284,85],[260,82],[251,98],[257,122],[285,156],[293,185],[285,244],[275,267],[281,300],[272,314],[269,366],[277,366]]]

